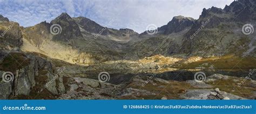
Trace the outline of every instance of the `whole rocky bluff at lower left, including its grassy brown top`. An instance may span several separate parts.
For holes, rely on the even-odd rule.
[[[59,76],[59,70],[55,70],[51,62],[34,54],[25,55],[21,52],[1,53],[7,55],[1,61],[0,99],[19,98],[22,96],[36,97],[39,91],[45,96],[49,96],[47,91],[48,94],[52,95],[58,95],[65,91],[62,77]],[[19,61],[19,63],[22,63],[20,67],[6,69],[6,63],[9,63],[8,66],[12,63],[8,61],[12,56],[17,59],[16,56],[20,58],[21,55],[23,56],[21,61],[25,62]]]

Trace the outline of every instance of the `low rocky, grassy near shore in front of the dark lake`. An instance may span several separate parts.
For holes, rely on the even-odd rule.
[[[216,82],[211,81],[208,84],[198,83],[194,80],[178,82],[166,81],[157,77],[135,76],[127,84],[120,85],[76,77],[73,80],[69,79],[67,85],[69,89],[58,99],[254,99],[256,97],[255,92],[248,94],[242,93],[245,91],[240,91],[241,89],[255,91],[253,88],[256,86],[255,81],[248,82],[251,87],[237,87],[235,81],[239,81],[239,79],[224,76],[228,77],[226,80],[232,81],[230,86],[226,86],[226,89],[230,90],[225,92],[220,91],[218,86],[212,84],[225,80],[223,75],[214,74],[214,76],[217,77],[210,76],[212,79],[208,79],[208,81],[215,80]]]

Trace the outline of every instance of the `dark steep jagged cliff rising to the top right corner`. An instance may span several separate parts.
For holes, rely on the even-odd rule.
[[[235,1],[224,9],[203,9],[191,30],[185,34],[180,53],[190,55],[255,56],[255,32],[245,34],[246,24],[255,28],[255,1]],[[203,29],[202,29],[203,26]],[[253,48],[253,49],[252,49]],[[207,51],[206,51],[207,50]],[[248,52],[248,53],[247,53]],[[247,54],[245,54],[247,53]]]

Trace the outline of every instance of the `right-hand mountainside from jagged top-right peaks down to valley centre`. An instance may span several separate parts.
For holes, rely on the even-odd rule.
[[[150,53],[142,52],[142,56],[162,54],[183,57],[235,54],[255,57],[255,32],[249,35],[242,33],[242,26],[245,24],[252,24],[255,27],[255,1],[233,2],[230,6],[226,5],[225,9],[215,7],[203,9],[197,20],[181,16],[176,18],[182,20],[179,21],[183,22],[179,24],[180,26],[172,24],[177,21],[174,17],[169,24],[160,27],[158,29],[160,32],[157,34],[141,36],[144,40],[132,42],[129,48],[135,47],[133,55],[139,55],[137,48],[143,47],[147,49],[143,52]],[[163,28],[168,25],[173,27],[174,32],[172,30],[167,32],[168,35],[164,35],[166,32],[162,32]],[[185,29],[185,25],[191,28]]]

